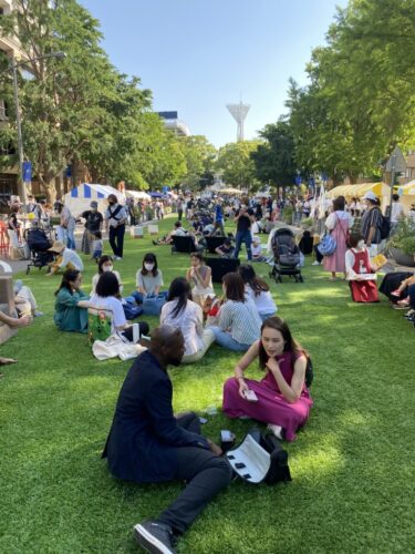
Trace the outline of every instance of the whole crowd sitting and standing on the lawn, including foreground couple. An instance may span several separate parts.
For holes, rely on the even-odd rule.
[[[335,248],[322,255],[317,247],[315,254],[331,279],[343,274],[353,299],[366,302],[378,300],[374,274],[382,263],[375,263],[373,254],[377,250],[373,252],[372,246],[381,244],[383,238],[377,198],[367,193],[363,202],[364,205],[353,201],[349,208],[343,197],[333,202],[325,228]],[[96,261],[90,290],[84,290],[84,263],[75,252],[76,222],[64,206],[58,207],[64,232],[58,234],[50,248],[55,259],[48,274],[53,277],[62,273],[54,306],[54,322],[60,331],[86,334],[89,312],[100,310],[108,314],[110,337],[122,337],[128,343],[139,341],[145,348],[120,391],[103,458],[107,459],[111,473],[122,480],[186,482],[183,492],[166,510],[135,526],[138,543],[149,552],[160,553],[174,552],[177,536],[187,531],[232,476],[221,449],[203,437],[197,414],[174,416],[168,366],[195,365],[210,356],[214,343],[241,352],[234,376],[224,383],[222,411],[230,419],[251,418],[262,422],[280,440],[295,440],[313,404],[305,386],[310,356],[292,336],[288,324],[276,315],[278,308],[270,286],[256,271],[256,263],[266,260],[259,237],[260,232],[267,230],[263,222],[272,223],[283,206],[271,198],[252,203],[242,197],[224,203],[219,198],[204,202],[178,197],[176,207],[178,219],[173,229],[154,245],[163,247],[172,245],[174,236],[191,236],[195,248],[189,255],[188,268],[167,286],[166,271],[159,267],[156,253],[147,252],[136,269],[135,290],[125,293],[120,263],[131,214],[128,206],[120,205],[116,196],[108,197],[104,214],[98,213],[94,202],[91,209],[82,214],[83,249]],[[294,207],[301,217],[310,215],[308,199],[298,199]],[[17,214],[12,212],[10,220],[17,227],[13,213]],[[356,230],[354,217],[361,215]],[[157,217],[163,216],[160,204]],[[400,217],[397,209],[395,216]],[[236,224],[235,235],[225,233],[227,218]],[[108,229],[113,256],[104,254],[104,226]],[[268,230],[272,230],[271,227]],[[216,248],[220,257],[238,258],[242,245],[246,248],[247,263],[224,276],[221,294],[214,289],[211,268],[203,254],[209,236],[222,236],[224,243]],[[408,319],[415,321],[415,276],[392,275],[385,277],[381,291],[393,304],[409,307]],[[1,315],[0,321],[23,327],[39,315],[32,293],[23,289],[20,284],[17,302],[19,295],[24,298],[27,311],[20,319]],[[154,315],[157,315],[155,324],[145,320]],[[13,361],[2,358],[0,362]],[[255,363],[263,370],[261,380],[249,378],[249,368]]]

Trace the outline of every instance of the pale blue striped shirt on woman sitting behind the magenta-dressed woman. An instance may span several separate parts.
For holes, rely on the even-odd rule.
[[[234,340],[241,345],[252,345],[260,337],[262,321],[252,300],[245,302],[227,300],[220,308],[219,327],[230,329]]]

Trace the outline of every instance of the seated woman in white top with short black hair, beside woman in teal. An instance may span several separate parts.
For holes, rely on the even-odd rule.
[[[133,326],[127,322],[123,302],[120,299],[118,279],[112,271],[101,275],[89,307],[107,311],[111,316],[111,332],[121,332],[129,342],[136,342],[136,340],[133,340]],[[139,321],[138,328],[139,336],[148,335],[148,324]],[[136,338],[139,339],[139,337]]]

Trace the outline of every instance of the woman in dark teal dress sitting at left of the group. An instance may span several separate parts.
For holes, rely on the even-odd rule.
[[[55,293],[53,320],[61,331],[87,331],[87,299],[81,290],[82,275],[77,269],[66,269]]]

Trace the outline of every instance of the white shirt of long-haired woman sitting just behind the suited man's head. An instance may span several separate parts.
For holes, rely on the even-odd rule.
[[[185,337],[185,356],[191,356],[204,348],[201,336],[204,334],[204,316],[200,306],[191,300],[187,300],[186,308],[177,317],[172,312],[178,300],[166,302],[162,308],[160,324],[173,325],[183,332]]]

